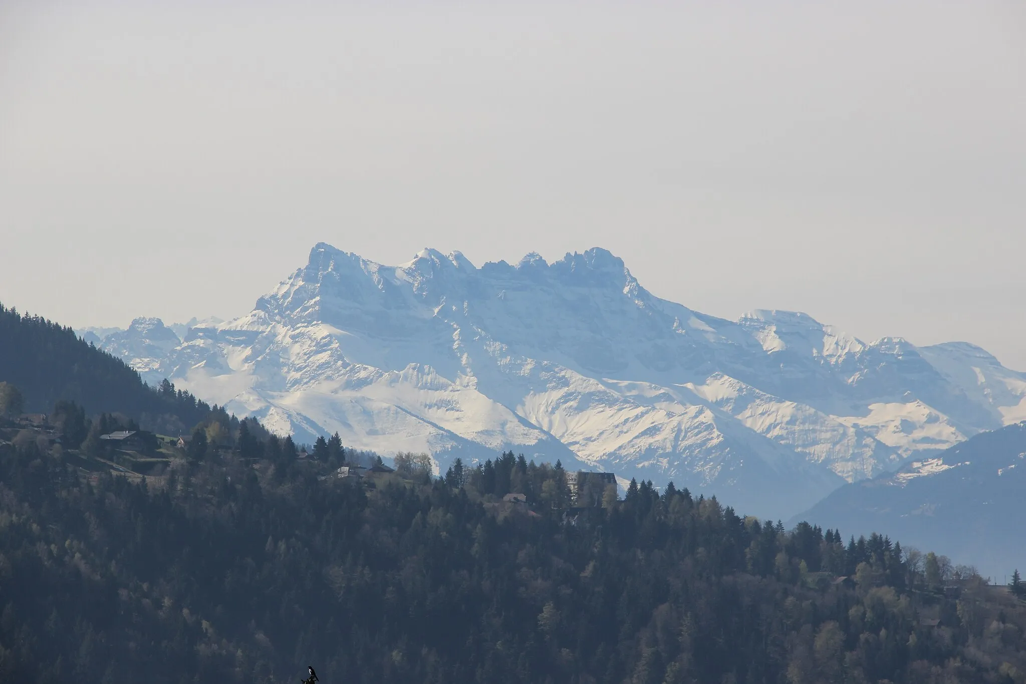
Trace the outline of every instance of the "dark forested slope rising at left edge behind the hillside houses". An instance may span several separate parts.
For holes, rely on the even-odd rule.
[[[168,434],[186,432],[210,410],[169,384],[147,386],[124,361],[83,341],[71,328],[2,305],[0,381],[22,391],[28,412],[48,412],[58,400],[70,400],[88,414],[123,413]]]

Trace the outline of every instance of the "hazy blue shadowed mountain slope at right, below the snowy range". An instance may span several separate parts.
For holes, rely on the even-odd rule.
[[[879,532],[973,563],[997,582],[1026,568],[1026,423],[977,435],[898,472],[832,492],[792,522]]]

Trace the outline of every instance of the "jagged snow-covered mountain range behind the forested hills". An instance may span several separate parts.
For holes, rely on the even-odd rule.
[[[729,321],[646,291],[604,249],[397,267],[317,244],[251,312],[95,335],[147,381],[302,441],[513,449],[670,480],[787,518],[844,484],[1026,418],[1026,373],[965,343],[867,344],[792,312]]]

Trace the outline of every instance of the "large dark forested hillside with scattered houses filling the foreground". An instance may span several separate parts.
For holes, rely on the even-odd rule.
[[[338,440],[236,425],[139,484],[0,446],[0,680],[1026,681],[1022,604],[884,537],[647,483],[571,508],[512,453],[342,479]]]

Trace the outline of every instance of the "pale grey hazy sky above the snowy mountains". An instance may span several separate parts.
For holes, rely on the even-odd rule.
[[[603,246],[660,296],[1026,370],[1026,11],[0,0],[0,300],[233,317],[326,241]]]

